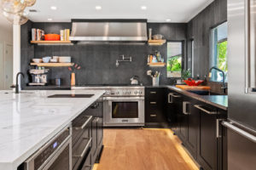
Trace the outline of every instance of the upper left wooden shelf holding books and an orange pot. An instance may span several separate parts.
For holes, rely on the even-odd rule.
[[[44,30],[32,28],[31,43],[38,45],[73,45],[73,42],[69,40],[69,36],[69,29],[61,30],[59,35],[44,34]]]

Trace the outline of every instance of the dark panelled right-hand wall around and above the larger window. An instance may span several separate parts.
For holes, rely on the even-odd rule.
[[[215,0],[190,20],[187,28],[188,39],[195,40],[195,76],[204,77],[209,71],[209,38],[212,26],[227,20],[227,0]]]

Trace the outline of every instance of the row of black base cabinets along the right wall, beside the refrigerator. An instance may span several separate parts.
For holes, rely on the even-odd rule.
[[[166,116],[173,132],[204,170],[227,169],[227,112],[172,89],[166,90]]]

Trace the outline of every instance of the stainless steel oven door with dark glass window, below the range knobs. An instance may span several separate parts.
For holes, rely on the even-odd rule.
[[[144,97],[108,97],[104,101],[104,126],[144,126]]]

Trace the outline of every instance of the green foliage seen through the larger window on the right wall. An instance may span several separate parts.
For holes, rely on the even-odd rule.
[[[228,71],[228,61],[227,61],[227,45],[228,42],[219,42],[218,46],[218,68],[225,73]]]

